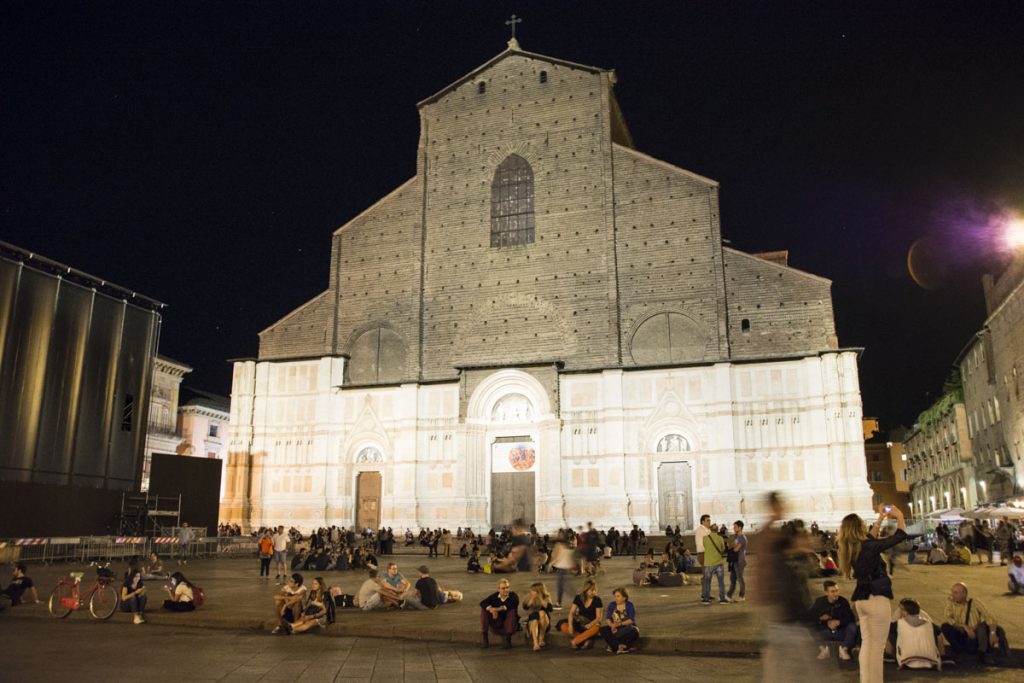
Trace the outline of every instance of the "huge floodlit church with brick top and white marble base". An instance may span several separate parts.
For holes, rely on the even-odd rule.
[[[541,530],[870,507],[830,282],[724,246],[613,71],[508,49],[418,104],[416,175],[234,362],[221,520]]]

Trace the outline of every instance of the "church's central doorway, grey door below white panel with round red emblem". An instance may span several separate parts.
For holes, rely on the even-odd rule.
[[[525,438],[498,439],[490,446],[490,526],[500,530],[516,519],[537,521],[537,450]]]

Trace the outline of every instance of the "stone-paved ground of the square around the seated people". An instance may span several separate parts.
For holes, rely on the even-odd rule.
[[[643,640],[642,651],[636,655],[610,656],[600,649],[574,653],[568,650],[560,636],[550,638],[550,647],[540,654],[528,651],[522,639],[517,638],[511,651],[499,647],[481,650],[477,647],[479,631],[477,603],[495,588],[495,577],[467,574],[464,563],[458,559],[427,560],[422,555],[400,555],[402,572],[415,580],[415,567],[428,562],[432,575],[444,588],[457,588],[465,593],[460,604],[443,605],[427,612],[378,611],[343,609],[338,611],[337,623],[326,633],[302,636],[269,636],[273,625],[271,596],[278,590],[273,581],[256,578],[256,560],[216,559],[199,560],[182,567],[184,573],[203,586],[208,595],[207,604],[187,614],[171,614],[157,608],[160,583],[151,582],[150,623],[135,627],[127,614],[116,614],[110,622],[92,622],[84,611],[73,613],[66,621],[48,616],[45,605],[18,607],[0,614],[0,629],[4,642],[26,653],[15,657],[17,672],[34,680],[49,680],[54,667],[63,667],[52,660],[54,643],[114,648],[112,652],[147,652],[153,656],[132,656],[130,664],[122,663],[122,671],[131,672],[135,678],[166,671],[161,659],[171,652],[188,651],[197,663],[196,671],[187,669],[185,680],[547,680],[555,675],[570,680],[582,678],[577,668],[581,661],[593,667],[597,680],[613,678],[620,670],[630,672],[640,680],[667,680],[673,672],[730,672],[732,680],[759,680],[761,635],[766,626],[763,608],[756,599],[739,604],[702,606],[699,588],[632,589],[631,596],[637,606],[638,624]],[[614,558],[604,563],[605,573],[598,577],[601,595],[607,599],[616,586],[630,586],[634,567],[632,558]],[[30,574],[39,587],[45,601],[50,587],[58,575],[82,568],[71,564],[33,565]],[[121,567],[116,567],[120,573]],[[757,584],[757,562],[752,561],[748,571],[749,583]],[[88,575],[88,574],[87,574]],[[313,572],[306,572],[309,581]],[[330,585],[341,586],[345,592],[354,593],[364,573],[324,572]],[[897,597],[918,599],[923,608],[941,620],[945,593],[954,580],[964,580],[972,588],[972,595],[982,599],[1005,626],[1011,644],[1020,646],[1024,637],[1024,598],[1013,598],[1005,593],[1005,567],[971,566],[938,567],[898,564],[894,579]],[[512,574],[512,589],[524,595],[535,578]],[[553,578],[543,577],[549,588],[554,589]],[[570,582],[574,590],[580,580]],[[849,595],[852,585],[841,582],[844,595]],[[820,580],[812,583],[812,590],[820,588]],[[756,596],[752,596],[756,597]],[[566,604],[568,599],[565,599]],[[556,612],[555,618],[567,615],[567,609]],[[89,638],[96,638],[90,641]],[[180,645],[180,647],[179,647]],[[962,668],[945,672],[944,678],[957,677],[971,680],[1010,681],[1024,675],[1019,666],[1020,651],[1011,661],[1000,667],[980,669]],[[687,656],[680,656],[687,655]],[[708,656],[713,655],[713,656]],[[173,655],[175,660],[177,655]],[[220,658],[222,657],[222,658]],[[110,657],[90,656],[85,664],[68,658],[68,663],[84,667],[91,676],[102,675],[112,680],[105,663]],[[627,663],[622,660],[626,659]],[[191,659],[188,659],[189,661]],[[63,661],[63,659],[61,659]],[[496,666],[496,663],[501,663]],[[512,663],[515,663],[510,671]],[[521,665],[519,664],[521,663]],[[282,669],[283,664],[286,673]],[[175,665],[177,666],[177,665]],[[191,665],[184,665],[190,667]],[[890,667],[894,680],[924,680],[934,674],[897,673]],[[8,667],[8,671],[10,671]],[[70,670],[69,670],[70,671]],[[66,672],[67,673],[67,672]],[[887,670],[887,675],[890,673]],[[678,678],[678,674],[675,675]],[[856,667],[829,663],[821,677],[836,680],[855,680]],[[505,677],[505,678],[503,678]],[[592,678],[590,674],[586,676]],[[53,680],[58,676],[53,676]],[[77,678],[81,678],[80,676]],[[65,678],[66,680],[66,678]],[[91,680],[91,679],[90,679]],[[117,675],[113,680],[118,680]]]

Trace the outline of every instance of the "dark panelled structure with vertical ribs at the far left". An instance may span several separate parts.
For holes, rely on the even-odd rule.
[[[102,530],[138,487],[163,306],[0,243],[0,537]]]

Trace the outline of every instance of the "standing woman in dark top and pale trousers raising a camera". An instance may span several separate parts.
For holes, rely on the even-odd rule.
[[[888,518],[896,520],[896,531],[881,539],[882,525]],[[880,683],[883,680],[882,656],[889,636],[893,599],[892,581],[882,554],[906,540],[906,521],[899,508],[884,505],[879,518],[867,527],[859,515],[843,518],[839,529],[839,566],[847,579],[855,579],[853,606],[860,616],[860,680]]]

